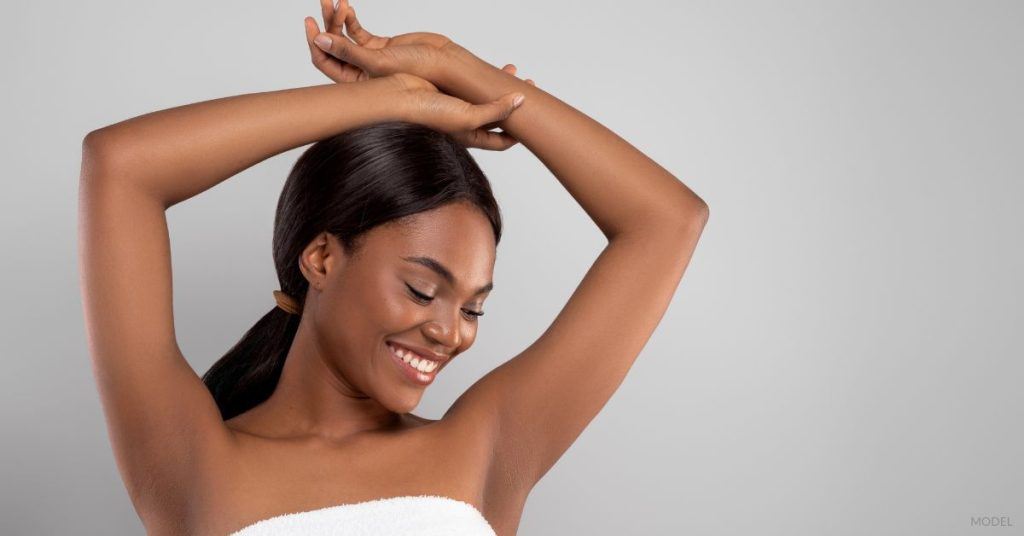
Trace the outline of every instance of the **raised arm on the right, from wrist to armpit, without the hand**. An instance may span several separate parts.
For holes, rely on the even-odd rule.
[[[494,482],[524,499],[625,379],[665,315],[709,210],[597,121],[454,43],[446,48],[451,67],[439,87],[471,102],[525,94],[499,126],[544,162],[608,239],[551,326],[450,410],[456,420],[497,420]]]

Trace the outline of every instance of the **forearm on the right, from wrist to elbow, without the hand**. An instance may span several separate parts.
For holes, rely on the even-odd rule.
[[[473,104],[510,91],[526,95],[522,106],[499,123],[534,153],[587,214],[611,239],[658,221],[702,221],[705,202],[683,182],[628,141],[563,102],[456,47],[440,81]]]

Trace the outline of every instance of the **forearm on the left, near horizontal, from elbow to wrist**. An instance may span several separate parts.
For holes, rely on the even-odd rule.
[[[90,132],[83,172],[128,181],[170,207],[279,153],[400,119],[393,95],[367,80],[161,110]]]

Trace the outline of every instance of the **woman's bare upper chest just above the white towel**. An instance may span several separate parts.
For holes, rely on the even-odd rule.
[[[522,505],[488,491],[490,453],[483,447],[429,426],[345,446],[245,439],[208,467],[188,525],[195,534],[226,535],[286,513],[440,495],[472,505],[499,534],[514,534],[502,527],[518,525]]]

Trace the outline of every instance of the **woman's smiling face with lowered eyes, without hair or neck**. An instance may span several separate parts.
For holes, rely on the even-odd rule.
[[[321,278],[311,311],[317,349],[352,393],[408,413],[476,338],[481,319],[474,313],[484,311],[495,266],[490,222],[457,202],[375,228],[355,256],[327,239],[324,256],[313,260],[322,271],[307,274]],[[436,365],[416,370],[391,342]]]

